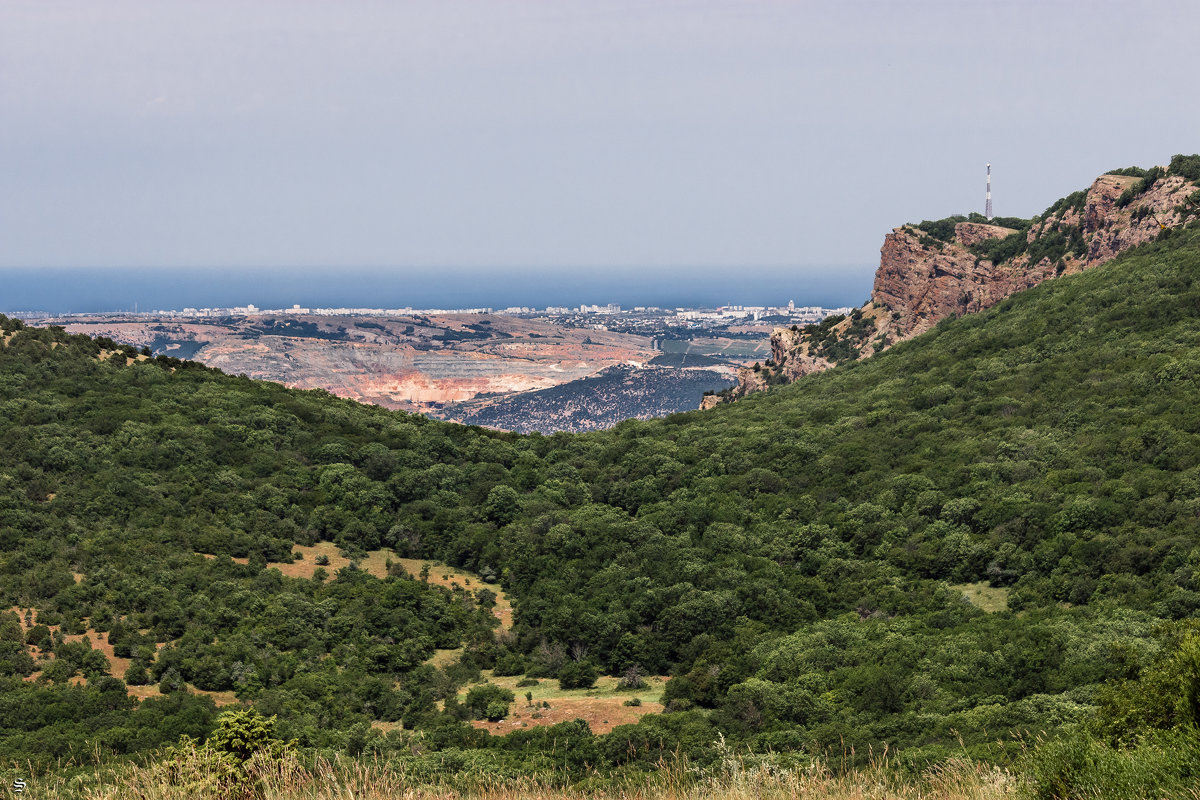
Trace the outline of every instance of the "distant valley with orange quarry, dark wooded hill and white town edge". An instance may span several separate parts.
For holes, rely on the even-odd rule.
[[[748,323],[745,311],[244,311],[28,320],[295,389],[547,434],[695,409],[706,393],[732,386],[738,366],[769,354],[769,323]],[[802,320],[826,313],[770,311]]]

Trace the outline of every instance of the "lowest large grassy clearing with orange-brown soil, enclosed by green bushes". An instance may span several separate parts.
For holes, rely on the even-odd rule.
[[[509,710],[509,716],[499,722],[475,720],[473,726],[491,734],[504,735],[521,728],[558,724],[571,720],[583,720],[593,733],[608,733],[617,726],[632,724],[647,714],[662,711],[662,690],[667,679],[662,675],[646,678],[642,688],[618,688],[618,679],[604,675],[592,688],[559,688],[553,678],[542,678],[536,686],[517,686],[520,676],[496,678],[491,670],[484,676],[497,686],[503,686],[516,694],[516,700]],[[470,686],[460,692],[466,697]],[[526,697],[530,694],[533,699]],[[640,705],[625,705],[626,700],[637,698]],[[545,708],[542,703],[548,703]]]

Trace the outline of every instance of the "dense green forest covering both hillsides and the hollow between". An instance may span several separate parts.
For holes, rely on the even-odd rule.
[[[665,752],[712,762],[719,740],[784,763],[884,745],[1008,762],[1037,735],[1044,796],[1147,736],[1181,738],[1156,775],[1183,780],[1200,766],[1198,277],[1200,230],[1166,231],[868,361],[551,437],[2,319],[0,758],[203,740],[217,709],[196,688],[299,747],[414,775],[629,775]],[[319,541],[350,566],[270,566]],[[378,548],[498,581],[511,631],[492,593],[356,567]],[[64,638],[84,631],[124,674]],[[664,714],[605,735],[490,736],[466,720],[512,698],[481,670],[672,678]]]

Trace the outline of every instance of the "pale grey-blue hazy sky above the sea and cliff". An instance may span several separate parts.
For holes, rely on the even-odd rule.
[[[1200,150],[1198,32],[1190,0],[2,0],[0,266],[834,275],[982,211],[988,161],[1030,216]]]

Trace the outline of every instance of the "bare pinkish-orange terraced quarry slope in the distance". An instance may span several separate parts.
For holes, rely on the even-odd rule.
[[[641,336],[488,314],[29,321],[107,336],[232,374],[416,411],[480,393],[550,389],[655,355]]]

